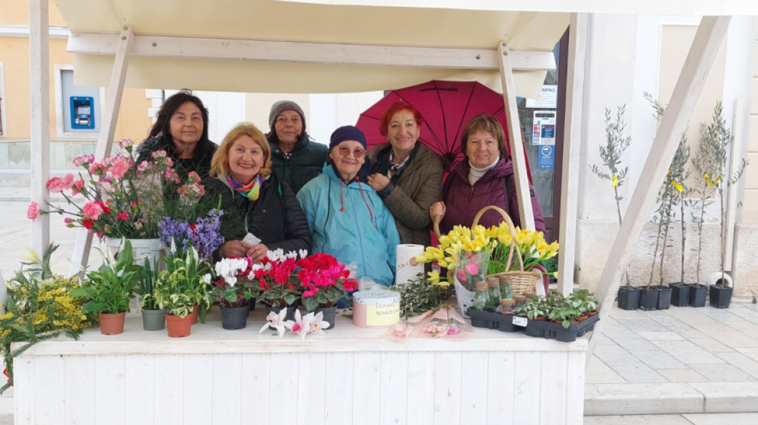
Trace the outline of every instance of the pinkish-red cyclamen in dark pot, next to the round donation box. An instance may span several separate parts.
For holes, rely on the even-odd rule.
[[[358,289],[358,281],[349,279],[350,271],[334,256],[315,253],[299,259],[297,278],[302,284],[302,304],[309,312],[334,306],[349,291]]]

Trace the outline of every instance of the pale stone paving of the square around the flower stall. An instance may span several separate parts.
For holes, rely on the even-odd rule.
[[[24,200],[11,200],[25,194]],[[0,271],[6,279],[30,246],[28,204],[28,191],[0,188]],[[51,216],[51,240],[61,244],[53,271],[68,271],[66,254],[74,247],[77,230],[66,228],[63,216]],[[97,242],[90,253],[92,265],[100,263],[96,247]],[[614,308],[606,320],[587,368],[587,423],[700,424],[710,422],[695,421],[700,420],[698,414],[758,412],[758,306],[672,306],[661,312]],[[12,414],[8,394],[0,398],[0,425],[4,415]],[[610,416],[622,414],[673,416],[664,418],[669,422],[645,422],[658,416],[634,417],[634,422],[629,416]],[[600,415],[609,416],[595,417]],[[730,425],[738,423],[735,419]]]

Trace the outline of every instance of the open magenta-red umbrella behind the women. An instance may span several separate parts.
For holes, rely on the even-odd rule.
[[[379,132],[379,120],[384,110],[396,101],[412,105],[421,112],[424,124],[421,126],[419,140],[449,161],[450,165],[446,171],[453,169],[463,160],[460,143],[463,127],[469,119],[480,113],[495,116],[503,129],[506,129],[506,148],[510,155],[503,95],[478,82],[468,81],[433,80],[393,90],[365,110],[358,119],[356,126],[365,133],[368,147],[387,142]],[[528,164],[526,146],[524,160]],[[527,172],[531,181],[528,167]]]

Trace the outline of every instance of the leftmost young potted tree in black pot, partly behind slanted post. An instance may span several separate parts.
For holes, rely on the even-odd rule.
[[[600,159],[607,172],[600,171],[597,165],[590,168],[595,175],[603,180],[610,181],[613,189],[613,198],[616,203],[616,213],[619,216],[619,225],[622,222],[621,201],[624,197],[619,194],[619,188],[624,185],[629,167],[622,167],[622,156],[631,144],[631,136],[624,136],[626,122],[624,114],[626,105],[618,107],[615,119],[611,117],[611,110],[606,108],[606,141],[600,144]],[[626,284],[619,287],[619,309],[636,310],[639,305],[640,288],[634,287],[629,281],[629,274],[625,272]]]

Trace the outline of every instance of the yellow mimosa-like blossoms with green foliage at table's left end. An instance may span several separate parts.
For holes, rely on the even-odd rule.
[[[76,340],[82,330],[97,324],[96,314],[83,312],[86,299],[70,296],[70,291],[80,286],[79,278],[55,275],[50,270],[50,256],[57,248],[51,244],[42,259],[33,254],[6,283],[5,314],[0,316],[0,355],[8,382],[0,387],[0,393],[13,386],[17,355],[61,333]],[[12,343],[25,344],[11,350]]]

